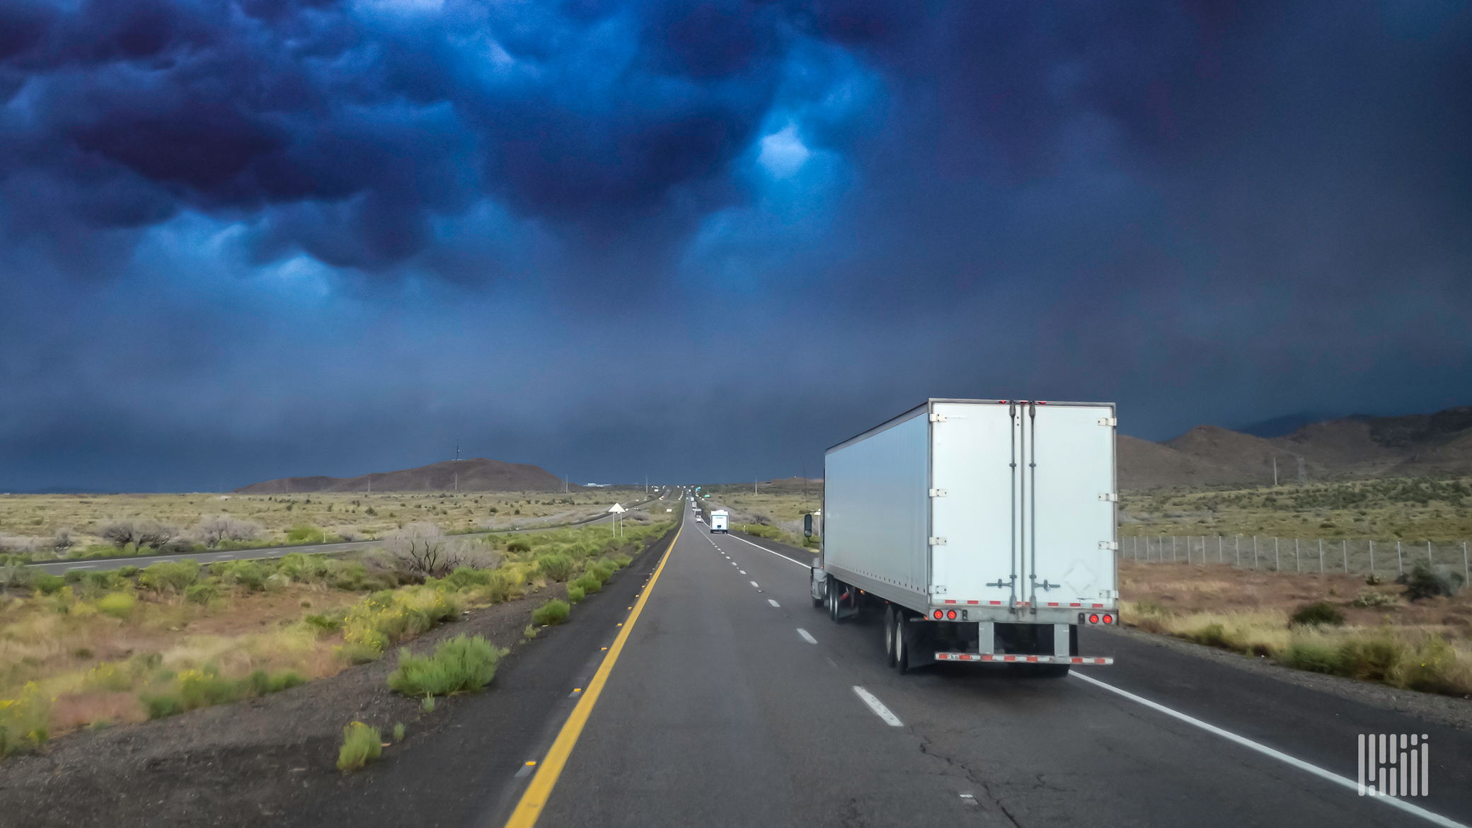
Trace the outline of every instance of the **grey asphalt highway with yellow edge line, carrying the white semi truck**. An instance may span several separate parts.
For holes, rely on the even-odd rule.
[[[1116,663],[1067,678],[899,675],[877,619],[813,607],[811,554],[692,517],[595,698],[549,713],[537,772],[508,766],[470,822],[1472,824],[1462,731],[1101,631],[1080,654]],[[1359,734],[1429,735],[1431,796],[1359,796]]]

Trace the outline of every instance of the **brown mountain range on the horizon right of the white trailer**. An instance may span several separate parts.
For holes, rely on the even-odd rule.
[[[1122,489],[1272,483],[1273,460],[1279,480],[1465,474],[1472,471],[1472,405],[1328,420],[1272,439],[1197,426],[1158,443],[1122,435],[1117,446]]]

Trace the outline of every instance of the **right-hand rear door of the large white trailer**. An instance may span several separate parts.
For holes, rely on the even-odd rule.
[[[1023,414],[1025,594],[1035,607],[1113,606],[1114,408],[1050,402]]]

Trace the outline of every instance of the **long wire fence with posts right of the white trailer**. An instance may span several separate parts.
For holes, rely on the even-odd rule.
[[[1275,572],[1400,575],[1425,560],[1454,569],[1462,564],[1463,583],[1472,582],[1468,544],[1407,544],[1375,541],[1329,541],[1322,538],[1273,538],[1266,535],[1133,535],[1120,538],[1119,554],[1139,563],[1231,564]]]

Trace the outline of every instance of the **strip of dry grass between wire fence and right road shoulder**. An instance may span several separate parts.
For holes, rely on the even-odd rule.
[[[1406,601],[1403,588],[1354,575],[1297,575],[1229,566],[1120,561],[1125,623],[1287,666],[1453,695],[1472,694],[1472,591]],[[1356,606],[1366,594],[1387,606]],[[1342,626],[1289,616],[1314,603]],[[1363,603],[1363,601],[1360,601]]]

